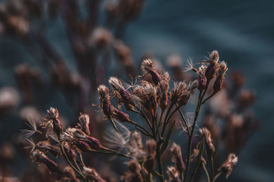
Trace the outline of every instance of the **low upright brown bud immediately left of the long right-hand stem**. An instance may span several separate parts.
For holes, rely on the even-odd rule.
[[[176,164],[176,169],[182,173],[186,169],[182,158],[181,148],[179,145],[173,143],[171,146],[171,153],[173,153],[173,162]]]

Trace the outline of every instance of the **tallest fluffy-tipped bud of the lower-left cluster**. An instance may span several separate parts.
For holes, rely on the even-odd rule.
[[[47,110],[46,120],[53,123],[53,130],[59,137],[61,131],[63,130],[63,125],[59,120],[58,109],[51,107],[49,110]]]

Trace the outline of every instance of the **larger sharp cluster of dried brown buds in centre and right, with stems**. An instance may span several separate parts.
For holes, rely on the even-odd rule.
[[[144,75],[138,77],[140,78],[138,83],[130,85],[123,83],[117,77],[110,77],[108,82],[110,88],[112,88],[112,92],[110,92],[110,88],[105,85],[98,87],[99,108],[105,115],[105,118],[111,121],[116,130],[116,137],[111,138],[109,136],[106,139],[112,144],[110,146],[125,149],[127,154],[133,158],[133,160],[128,163],[129,171],[123,176],[125,181],[134,181],[136,179],[138,179],[138,181],[151,181],[151,174],[158,177],[160,181],[164,181],[162,157],[169,145],[169,140],[175,127],[176,120],[173,122],[173,114],[177,111],[180,112],[183,120],[183,122],[180,120],[177,122],[179,122],[189,139],[188,156],[185,165],[181,148],[173,143],[171,153],[173,153],[175,166],[169,166],[166,173],[169,174],[171,181],[186,181],[186,179],[190,178],[188,176],[190,162],[193,161],[194,163],[194,161],[196,161],[196,168],[203,166],[208,174],[206,158],[203,157],[203,148],[204,145],[206,145],[208,155],[214,155],[215,148],[211,133],[206,128],[200,129],[202,140],[199,142],[199,148],[192,148],[192,136],[195,131],[201,105],[206,103],[208,99],[212,98],[212,96],[218,93],[223,87],[227,65],[223,61],[219,62],[219,53],[217,51],[212,51],[208,60],[203,60],[198,69],[193,67],[192,62],[189,63],[188,70],[193,70],[197,73],[198,78],[189,83],[185,81],[175,82],[171,90],[169,89],[169,73],[158,73],[155,69],[155,62],[150,59],[142,61],[141,69]],[[210,84],[212,80],[214,82]],[[193,117],[192,120],[186,120],[180,108],[188,103],[188,100],[195,93],[196,89],[199,90],[200,94],[195,117]],[[213,91],[208,95],[208,90]],[[204,99],[206,95],[208,95],[208,97]],[[111,101],[113,97],[116,97],[116,101],[118,102],[117,107],[114,106]],[[141,122],[135,122],[132,118],[129,118],[129,114],[121,110],[123,105],[125,105],[125,109],[128,112],[139,114],[147,123],[147,127],[143,127]],[[133,134],[121,122],[134,125],[139,133],[151,138],[147,140],[145,150],[142,149],[141,140],[138,140],[138,144],[132,145],[132,141],[134,140],[133,135],[136,136],[135,133],[137,133],[137,131],[134,131]],[[140,138],[140,136],[138,136],[138,138]],[[193,153],[191,154],[192,149]],[[158,164],[158,170],[156,170],[156,164]],[[192,177],[195,176],[196,172],[197,169],[194,171],[194,175],[192,174]],[[212,170],[212,180],[213,179],[214,168]]]

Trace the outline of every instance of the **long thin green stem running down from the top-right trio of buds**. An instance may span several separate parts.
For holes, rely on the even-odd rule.
[[[208,84],[209,84],[209,82],[207,82],[206,89],[203,91],[203,94],[202,94],[202,92],[199,92],[198,102],[197,102],[197,106],[196,106],[196,110],[195,110],[195,118],[194,118],[194,122],[193,122],[193,125],[192,125],[189,140],[188,140],[188,160],[187,160],[187,163],[186,163],[186,173],[185,173],[184,181],[186,181],[186,177],[188,177],[188,170],[189,170],[189,166],[190,166],[192,136],[193,136],[194,129],[195,129],[196,122],[197,122],[197,118],[198,118],[198,115],[199,115],[199,112],[200,112],[201,101],[203,100],[203,96],[206,94],[206,90],[208,90]]]

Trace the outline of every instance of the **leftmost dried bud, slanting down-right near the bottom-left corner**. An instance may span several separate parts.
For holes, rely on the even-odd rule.
[[[60,169],[58,168],[58,165],[54,161],[49,159],[47,157],[47,155],[45,155],[41,151],[34,150],[32,152],[32,159],[34,159],[34,161],[36,161],[38,163],[45,164],[51,172],[60,172]]]

